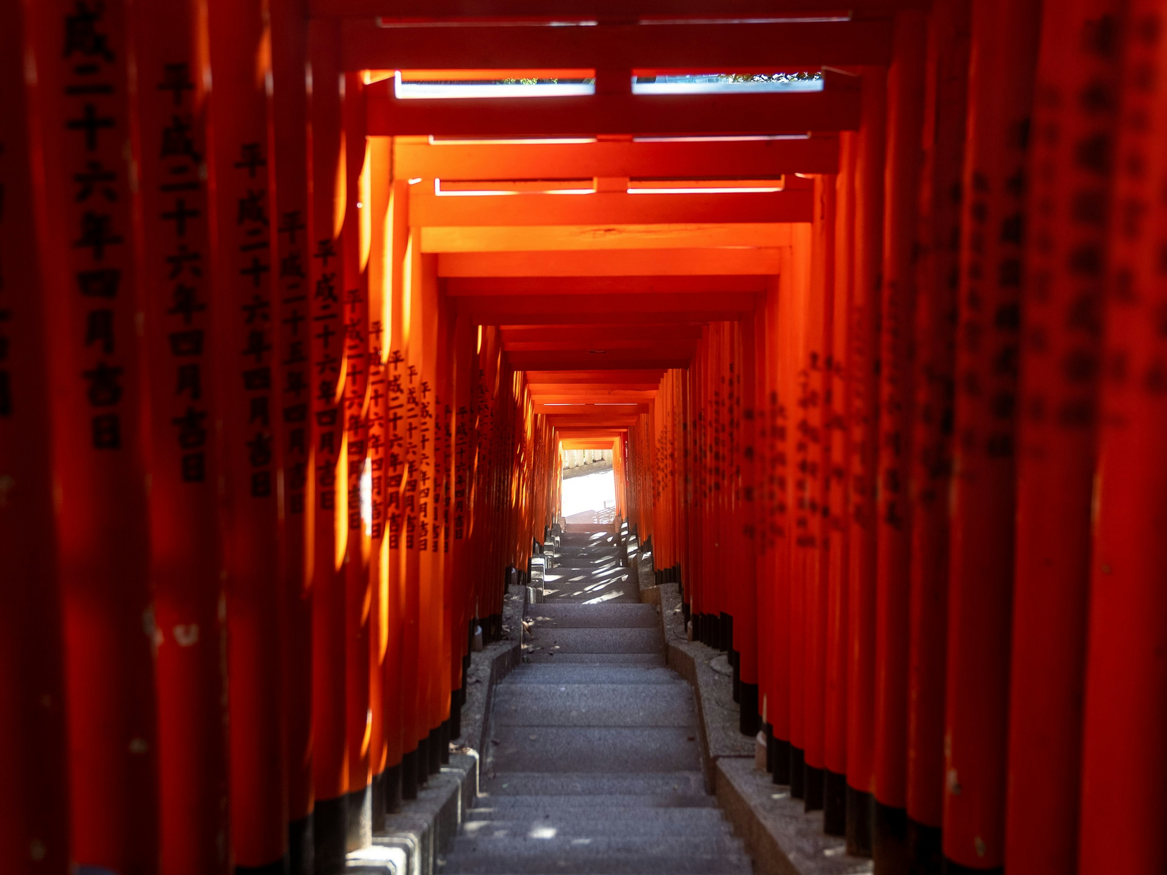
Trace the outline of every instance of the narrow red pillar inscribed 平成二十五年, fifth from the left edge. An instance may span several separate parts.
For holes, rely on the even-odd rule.
[[[309,368],[312,286],[308,280],[308,52],[302,0],[272,0],[272,105],[268,170],[274,173],[271,223],[275,235],[279,321],[274,326],[282,370],[272,415],[278,418],[277,459],[284,473],[280,573],[284,579],[284,744],[287,757],[288,867],[305,875],[312,860],[312,588],[309,533],[315,520],[308,501],[313,373]],[[271,178],[271,173],[268,178]]]

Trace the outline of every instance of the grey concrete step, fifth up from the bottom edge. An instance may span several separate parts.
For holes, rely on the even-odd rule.
[[[693,727],[692,693],[664,684],[501,684],[495,726]]]

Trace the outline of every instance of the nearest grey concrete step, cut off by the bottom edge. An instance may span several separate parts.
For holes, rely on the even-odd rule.
[[[461,839],[459,839],[461,841]],[[749,873],[749,858],[742,852],[722,850],[711,847],[704,853],[685,848],[680,853],[670,852],[669,841],[644,842],[637,850],[609,850],[588,848],[585,845],[566,842],[546,849],[519,853],[516,845],[522,841],[539,842],[538,839],[511,839],[499,841],[498,847],[483,848],[482,842],[446,855],[442,873],[454,875],[534,875],[557,873],[558,875],[736,875]]]

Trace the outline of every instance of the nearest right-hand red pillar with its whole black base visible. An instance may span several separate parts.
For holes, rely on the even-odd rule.
[[[882,259],[886,82],[862,74],[862,118],[855,142],[855,256],[848,372],[851,388],[851,523],[847,533],[847,853],[871,854],[875,789],[875,481],[879,426],[879,274]]]

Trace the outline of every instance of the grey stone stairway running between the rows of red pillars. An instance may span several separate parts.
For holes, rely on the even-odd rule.
[[[548,575],[619,561],[610,531],[566,532]],[[525,662],[495,691],[482,793],[442,872],[749,873],[705,791],[693,691],[627,568],[526,609]],[[548,596],[551,594],[548,593]]]

